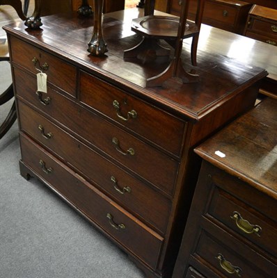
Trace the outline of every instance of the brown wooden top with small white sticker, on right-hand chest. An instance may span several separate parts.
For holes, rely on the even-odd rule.
[[[277,199],[277,99],[264,99],[195,152]]]

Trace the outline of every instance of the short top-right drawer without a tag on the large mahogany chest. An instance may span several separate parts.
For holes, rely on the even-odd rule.
[[[180,156],[185,122],[85,72],[80,74],[80,100],[168,152]]]

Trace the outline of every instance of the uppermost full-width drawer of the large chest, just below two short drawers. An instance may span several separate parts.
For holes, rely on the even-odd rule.
[[[17,95],[38,106],[47,115],[63,123],[68,129],[139,174],[143,179],[150,181],[157,188],[173,195],[179,167],[177,161],[81,108],[51,88],[45,94],[45,97],[47,95],[51,99],[49,104],[46,106],[40,104],[33,89],[35,79],[16,68],[14,72]]]

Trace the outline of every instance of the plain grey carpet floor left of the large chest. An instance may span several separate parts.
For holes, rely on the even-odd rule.
[[[0,65],[1,90],[9,65]],[[10,104],[0,107],[0,122]],[[68,204],[19,174],[17,122],[0,140],[1,278],[143,278],[143,272]]]

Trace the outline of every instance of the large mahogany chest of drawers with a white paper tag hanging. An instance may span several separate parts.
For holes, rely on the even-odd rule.
[[[203,53],[198,83],[145,88],[168,60],[124,60],[123,50],[141,38],[116,15],[104,17],[102,58],[86,52],[93,19],[53,15],[36,31],[5,27],[20,170],[77,209],[147,277],[171,277],[200,168],[193,147],[253,106],[267,72]],[[47,75],[47,92],[38,91],[37,74]]]

